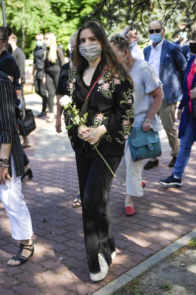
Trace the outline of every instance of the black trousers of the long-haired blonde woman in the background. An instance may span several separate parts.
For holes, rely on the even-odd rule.
[[[47,70],[45,74],[50,113],[54,113],[53,111],[54,96],[55,96],[55,90],[58,85],[58,77],[59,77],[60,70],[61,70],[60,67],[51,67],[50,71]]]

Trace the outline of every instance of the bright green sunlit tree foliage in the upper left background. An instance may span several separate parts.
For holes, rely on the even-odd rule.
[[[13,29],[22,47],[25,33],[25,54],[32,57],[35,34],[53,32],[57,43],[64,48],[69,37],[84,23],[84,14],[89,14],[97,0],[4,0],[7,25]],[[2,14],[0,14],[3,25]]]

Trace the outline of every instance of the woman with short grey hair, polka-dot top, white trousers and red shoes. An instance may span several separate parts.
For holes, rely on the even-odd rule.
[[[115,34],[110,37],[110,44],[119,59],[125,62],[134,82],[134,127],[142,126],[144,132],[150,129],[157,132],[161,124],[157,116],[163,100],[162,83],[153,67],[145,60],[132,56],[128,40]],[[116,175],[121,184],[126,182],[125,214],[135,213],[133,198],[143,196],[141,179],[142,160],[134,162],[129,150],[128,141],[125,143],[125,155],[122,157]]]

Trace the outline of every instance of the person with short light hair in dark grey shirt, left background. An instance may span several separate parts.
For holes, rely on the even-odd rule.
[[[25,84],[25,54],[22,51],[22,49],[20,49],[17,46],[17,36],[15,36],[14,34],[9,36],[9,44],[11,44],[12,46],[12,56],[14,57],[16,64],[20,70],[19,84],[20,84],[22,99],[25,100],[24,91],[23,91],[23,87]]]

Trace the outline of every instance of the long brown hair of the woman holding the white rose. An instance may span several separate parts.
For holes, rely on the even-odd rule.
[[[102,52],[101,52],[101,62],[100,68],[101,70],[107,65],[110,70],[110,77],[115,76],[117,73],[120,74],[123,78],[130,81],[133,85],[133,79],[130,76],[130,73],[127,70],[126,65],[124,65],[119,58],[117,57],[116,53],[110,46],[110,43],[107,39],[107,35],[104,31],[104,28],[100,23],[89,21],[79,28],[77,37],[76,37],[76,48],[75,48],[75,55],[74,55],[74,65],[76,66],[78,73],[82,75],[84,70],[88,68],[89,63],[79,52],[79,44],[80,44],[80,33],[84,29],[91,29],[94,33],[94,36],[97,40],[101,43]]]

